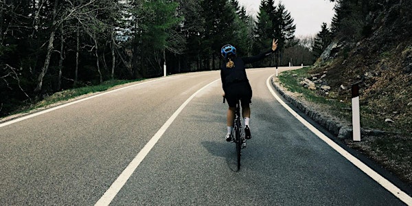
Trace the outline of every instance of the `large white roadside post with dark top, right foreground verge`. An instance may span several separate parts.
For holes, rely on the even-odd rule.
[[[352,126],[354,141],[361,141],[361,115],[359,112],[359,84],[352,85]]]

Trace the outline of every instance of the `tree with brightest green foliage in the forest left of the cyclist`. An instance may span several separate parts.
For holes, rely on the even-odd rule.
[[[133,31],[133,70],[135,77],[159,76],[163,71],[165,49],[174,41],[170,29],[179,23],[178,3],[165,0],[135,1],[130,13]]]

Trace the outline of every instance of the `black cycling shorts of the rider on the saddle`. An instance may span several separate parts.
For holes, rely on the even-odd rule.
[[[236,107],[236,100],[240,100],[242,106],[251,103],[252,88],[249,82],[238,82],[229,84],[225,91],[225,98],[230,107]]]

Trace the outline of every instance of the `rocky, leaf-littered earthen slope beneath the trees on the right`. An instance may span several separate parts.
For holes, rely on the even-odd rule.
[[[345,102],[351,85],[360,84],[361,106],[377,122],[411,135],[412,1],[398,1],[369,18],[369,35],[358,42],[334,39],[310,73],[330,86],[325,95]]]

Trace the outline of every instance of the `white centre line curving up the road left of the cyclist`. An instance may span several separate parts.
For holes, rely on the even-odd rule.
[[[172,124],[174,119],[183,111],[183,108],[189,102],[198,94],[200,93],[203,89],[206,87],[209,87],[211,84],[214,84],[214,82],[218,81],[220,79],[214,80],[213,82],[210,82],[207,84],[205,87],[202,87],[198,91],[196,91],[190,98],[188,98],[183,104],[173,113],[173,115],[168,119],[168,121],[161,126],[161,128],[157,131],[155,135],[153,135],[152,139],[148,141],[148,143],[140,150],[140,152],[136,155],[135,159],[133,159],[129,165],[126,167],[126,169],[123,170],[122,174],[120,174],[117,179],[112,183],[112,185],[104,192],[103,196],[99,199],[95,205],[109,205],[111,201],[113,201],[113,198],[117,195],[117,193],[122,189],[126,181],[130,178],[130,176],[135,172],[136,168],[139,166],[141,161],[148,155],[150,150],[152,150],[153,146],[159,141],[160,137],[165,133],[165,130],[169,128],[169,126]]]

